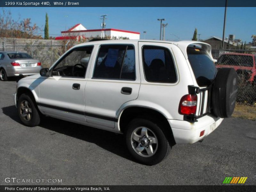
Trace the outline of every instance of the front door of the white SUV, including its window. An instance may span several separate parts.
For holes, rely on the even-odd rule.
[[[78,123],[85,122],[84,88],[92,51],[93,46],[74,48],[51,68],[50,77],[39,85],[38,106],[46,115]]]

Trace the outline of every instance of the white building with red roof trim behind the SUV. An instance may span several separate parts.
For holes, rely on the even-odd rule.
[[[79,41],[81,38],[87,39],[106,37],[110,37],[111,39],[140,39],[140,33],[113,28],[87,30],[82,24],[76,24],[74,27],[68,29],[67,31],[61,31],[61,36],[55,37],[55,40],[76,39]]]

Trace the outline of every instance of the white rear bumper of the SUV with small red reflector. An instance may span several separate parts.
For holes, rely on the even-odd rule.
[[[223,118],[209,115],[197,119],[197,122],[194,123],[168,119],[175,142],[180,144],[192,144],[203,139],[213,132],[222,121]],[[202,131],[204,134],[200,137]]]

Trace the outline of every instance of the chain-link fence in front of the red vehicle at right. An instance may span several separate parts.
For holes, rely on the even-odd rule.
[[[234,68],[238,75],[236,101],[253,105],[256,103],[256,51],[252,50],[212,50],[217,59],[217,68]]]

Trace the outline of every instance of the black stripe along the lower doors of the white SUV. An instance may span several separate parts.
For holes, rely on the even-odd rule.
[[[97,115],[97,114],[93,114],[93,113],[87,113],[84,111],[78,111],[78,110],[74,110],[74,109],[57,107],[57,106],[48,105],[48,104],[44,104],[44,103],[36,103],[36,104],[41,107],[53,108],[53,109],[57,109],[60,111],[67,111],[67,112],[75,113],[75,114],[79,114],[79,115],[85,115],[85,116],[95,117],[95,118],[99,118],[99,119],[105,119],[108,121],[118,122],[118,119],[116,119],[115,117],[101,116],[101,115]]]

